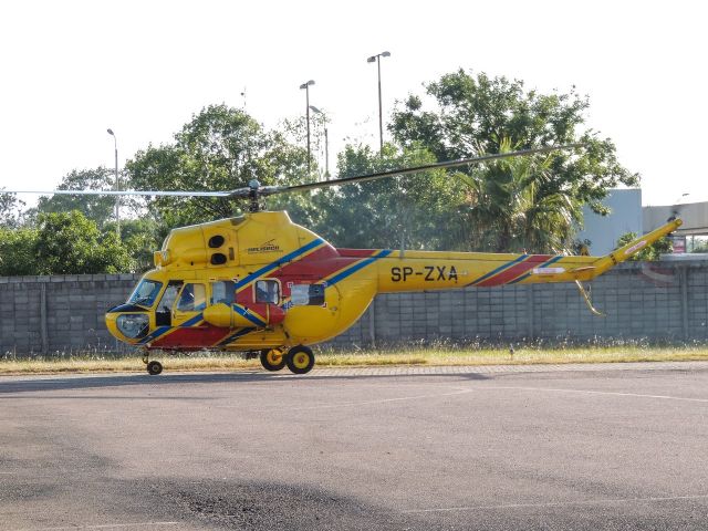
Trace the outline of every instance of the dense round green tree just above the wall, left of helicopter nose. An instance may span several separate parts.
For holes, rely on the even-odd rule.
[[[33,246],[35,274],[90,274],[132,271],[124,246],[111,231],[102,236],[79,210],[40,214]]]

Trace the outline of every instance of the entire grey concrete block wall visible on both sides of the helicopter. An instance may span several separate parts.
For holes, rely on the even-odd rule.
[[[0,278],[0,356],[115,351],[104,313],[138,278]],[[590,313],[572,283],[383,294],[329,344],[708,340],[708,262],[625,263],[587,285],[605,317]]]

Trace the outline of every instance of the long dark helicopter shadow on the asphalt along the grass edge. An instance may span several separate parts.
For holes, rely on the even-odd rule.
[[[23,377],[19,377],[23,378]],[[110,376],[71,376],[59,378],[38,378],[38,379],[17,379],[0,382],[0,400],[10,398],[10,396],[24,393],[42,393],[52,391],[75,391],[75,389],[101,389],[116,387],[140,387],[156,388],[164,386],[179,386],[186,384],[225,384],[225,383],[263,383],[263,382],[281,382],[281,383],[308,383],[320,381],[364,381],[364,379],[402,379],[402,378],[445,378],[457,381],[485,381],[492,379],[490,375],[480,373],[455,373],[455,374],[310,374],[306,376],[283,376],[270,373],[195,373],[195,374],[162,374],[160,376],[150,376],[143,374],[135,375],[110,375]],[[125,397],[121,397],[125,398]],[[145,397],[142,397],[145,398]],[[165,399],[164,396],[155,396],[155,399]],[[183,397],[176,397],[183,398]]]

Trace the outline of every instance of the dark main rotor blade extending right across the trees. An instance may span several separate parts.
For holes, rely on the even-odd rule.
[[[341,179],[320,180],[319,183],[309,183],[304,185],[277,186],[277,187],[270,187],[270,189],[267,189],[267,190],[260,190],[260,195],[271,196],[273,194],[282,194],[285,191],[305,191],[305,190],[313,190],[315,188],[326,188],[329,186],[340,186],[340,185],[346,185],[351,183],[365,183],[367,180],[383,179],[386,177],[397,177],[399,175],[417,174],[419,171],[426,171],[429,169],[454,168],[457,166],[465,166],[467,164],[480,164],[489,160],[499,160],[502,158],[511,158],[511,157],[522,157],[524,155],[533,155],[534,153],[548,153],[548,152],[554,152],[556,149],[570,149],[570,148],[580,147],[580,146],[581,146],[580,144],[568,144],[564,146],[537,147],[533,149],[521,149],[518,152],[482,155],[481,157],[459,158],[457,160],[446,160],[444,163],[424,164],[423,166],[415,166],[413,168],[391,169],[387,171],[378,171],[375,174],[357,175],[354,177],[343,177]]]

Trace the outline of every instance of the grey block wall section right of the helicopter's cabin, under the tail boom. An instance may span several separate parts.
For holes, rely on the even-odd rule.
[[[624,263],[587,287],[606,316],[592,315],[573,283],[383,294],[330,344],[708,340],[708,262]]]

